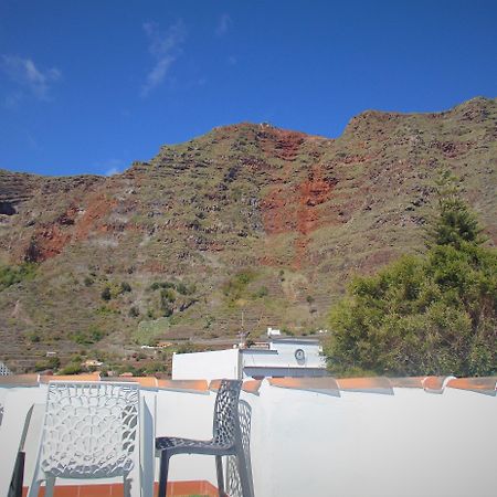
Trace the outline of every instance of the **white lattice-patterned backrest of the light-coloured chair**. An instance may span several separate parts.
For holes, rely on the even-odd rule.
[[[138,392],[133,383],[50,383],[40,463],[45,474],[77,478],[129,473]]]

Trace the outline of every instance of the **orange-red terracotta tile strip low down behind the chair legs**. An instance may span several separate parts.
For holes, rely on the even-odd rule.
[[[154,495],[157,495],[158,484],[156,483]],[[107,485],[55,485],[53,497],[121,497],[123,484]],[[28,495],[28,487],[22,488],[22,497]],[[45,488],[41,487],[39,497],[44,497]],[[202,495],[218,497],[218,488],[207,480],[195,482],[170,482],[168,483],[167,495],[190,496]]]

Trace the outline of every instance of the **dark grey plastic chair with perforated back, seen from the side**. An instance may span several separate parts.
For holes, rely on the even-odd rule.
[[[222,456],[235,456],[243,497],[253,497],[248,466],[243,451],[239,419],[239,398],[242,381],[222,380],[214,404],[212,438],[209,441],[160,436],[156,438],[156,455],[160,456],[159,495],[166,497],[169,458],[175,454],[205,454],[215,456],[218,489],[224,496]]]

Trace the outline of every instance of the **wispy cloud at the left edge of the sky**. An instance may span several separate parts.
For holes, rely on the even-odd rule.
[[[18,55],[1,55],[0,68],[18,87],[40,101],[50,101],[52,85],[62,77],[56,67],[43,71],[31,59]],[[18,89],[6,98],[6,104],[15,105],[22,97],[23,93]]]

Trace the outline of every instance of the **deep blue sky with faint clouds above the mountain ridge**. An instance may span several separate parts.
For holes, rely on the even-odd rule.
[[[0,168],[113,173],[214,126],[327,137],[497,96],[497,2],[0,0]]]

